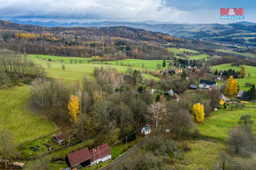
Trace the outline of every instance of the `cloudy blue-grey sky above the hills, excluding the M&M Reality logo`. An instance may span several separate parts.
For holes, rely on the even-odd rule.
[[[230,23],[220,8],[245,8],[256,23],[256,0],[0,0],[0,19],[86,22]]]

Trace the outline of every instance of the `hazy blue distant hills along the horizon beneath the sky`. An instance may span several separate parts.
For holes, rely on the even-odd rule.
[[[29,24],[34,26],[47,27],[73,27],[73,26],[130,26],[144,29],[152,32],[167,33],[184,39],[198,39],[203,41],[220,42],[228,45],[239,45],[245,47],[256,47],[256,24],[252,22],[241,21],[233,24],[177,24],[162,23],[154,21],[145,22],[37,22],[37,21],[19,21],[13,22],[20,24]]]

